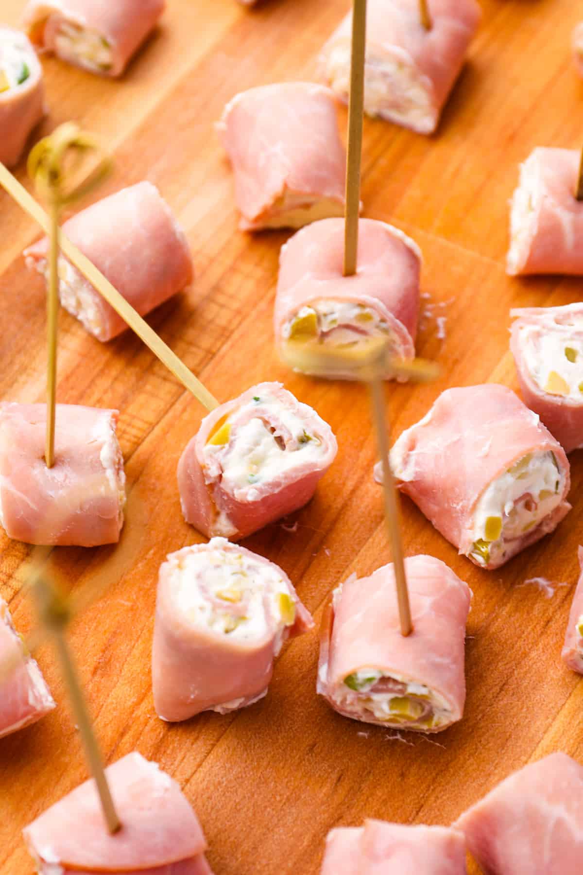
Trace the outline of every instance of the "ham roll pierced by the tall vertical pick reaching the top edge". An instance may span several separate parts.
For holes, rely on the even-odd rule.
[[[383,336],[392,357],[411,360],[420,306],[421,252],[413,240],[374,219],[359,221],[357,273],[343,276],[344,220],[302,228],[281,248],[275,343],[356,346]],[[322,371],[318,372],[321,375]],[[330,373],[351,379],[350,369]],[[385,374],[392,378],[391,371]]]

